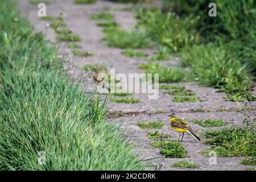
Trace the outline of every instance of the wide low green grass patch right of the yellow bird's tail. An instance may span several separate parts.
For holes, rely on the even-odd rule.
[[[210,151],[215,151],[218,156],[256,156],[256,131],[251,128],[232,127],[205,131],[203,133],[205,144],[212,147],[201,151],[208,155]]]

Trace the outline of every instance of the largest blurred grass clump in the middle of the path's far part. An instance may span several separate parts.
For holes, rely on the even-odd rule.
[[[105,32],[103,38],[108,42],[110,47],[119,48],[147,48],[151,46],[151,40],[141,31],[138,30],[119,30],[118,28],[110,29]]]

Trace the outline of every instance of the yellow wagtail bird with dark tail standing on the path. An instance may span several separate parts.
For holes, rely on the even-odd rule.
[[[182,137],[181,137],[181,141],[183,139],[183,136],[184,136],[184,132],[187,132],[189,134],[191,134],[196,140],[200,140],[199,137],[197,137],[193,132],[192,132],[192,129],[190,126],[188,126],[188,124],[183,121],[182,119],[176,117],[176,113],[172,113],[171,115],[168,115],[171,117],[170,119],[170,125],[171,127],[175,130],[175,131],[178,131],[181,135],[181,132],[182,132]],[[179,139],[180,139],[180,136],[179,136]],[[179,141],[178,139],[178,141]]]

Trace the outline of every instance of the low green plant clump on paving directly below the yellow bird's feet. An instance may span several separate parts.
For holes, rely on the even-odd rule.
[[[160,154],[166,158],[185,158],[187,156],[185,147],[174,140],[158,140],[150,144],[152,147],[160,148]]]

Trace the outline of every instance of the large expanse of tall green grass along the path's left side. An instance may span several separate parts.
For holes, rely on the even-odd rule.
[[[0,6],[0,170],[144,169],[118,126],[103,119],[106,100],[70,84],[57,46],[27,20],[12,21],[16,5]]]

